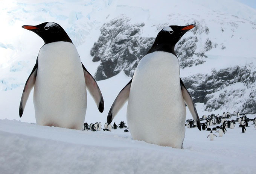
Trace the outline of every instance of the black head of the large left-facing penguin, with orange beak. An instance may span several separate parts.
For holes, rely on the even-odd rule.
[[[44,40],[44,44],[58,41],[72,43],[65,30],[57,23],[45,22],[37,26],[22,26],[22,28],[36,33]]]

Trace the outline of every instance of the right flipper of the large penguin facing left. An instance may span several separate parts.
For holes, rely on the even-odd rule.
[[[83,70],[84,70],[84,78],[85,78],[85,84],[86,88],[90,92],[91,96],[93,97],[93,100],[98,106],[99,112],[103,112],[104,110],[104,100],[101,94],[101,90],[99,89],[99,86],[96,82],[96,80],[91,76],[91,74],[86,70],[84,65],[82,64]]]

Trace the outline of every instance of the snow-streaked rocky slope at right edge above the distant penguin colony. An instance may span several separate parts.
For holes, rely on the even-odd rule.
[[[213,69],[210,74],[195,74],[182,80],[195,103],[204,103],[204,109],[232,109],[256,112],[256,67],[253,64]]]

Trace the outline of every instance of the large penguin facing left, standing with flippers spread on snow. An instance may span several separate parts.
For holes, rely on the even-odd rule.
[[[86,88],[100,112],[104,110],[101,90],[81,63],[78,51],[57,23],[22,26],[44,40],[20,101],[20,117],[34,87],[35,118],[39,125],[81,130],[87,107]]]

